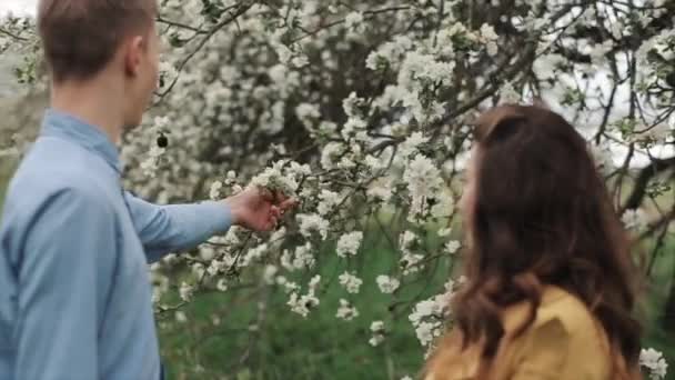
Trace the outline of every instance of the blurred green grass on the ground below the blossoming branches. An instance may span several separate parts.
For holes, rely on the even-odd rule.
[[[289,311],[284,304],[288,297],[282,292],[271,292],[269,312],[260,323],[259,334],[252,341],[245,329],[255,319],[255,301],[248,296],[211,293],[195,300],[184,309],[189,321],[179,323],[172,316],[163,322],[160,330],[162,354],[170,368],[171,379],[400,379],[405,374],[414,376],[423,364],[423,350],[407,321],[411,304],[399,309],[391,317],[387,307],[394,301],[392,296],[380,293],[374,278],[387,273],[394,264],[392,254],[382,241],[370,241],[360,257],[363,268],[364,286],[355,306],[360,318],[352,322],[338,320],[334,312],[338,300],[346,293],[340,287],[320,297],[319,310],[305,320]],[[675,241],[671,241],[664,252],[674,252]],[[330,250],[321,257],[334,257]],[[425,283],[411,284],[400,300],[437,293],[447,278],[447,262],[430,270],[424,276]],[[674,254],[663,254],[653,273],[653,283],[658,287],[649,293],[646,317],[644,347],[653,347],[664,352],[675,367],[675,336],[666,332],[655,322],[669,289],[675,266]],[[341,273],[341,261],[326,259],[321,263],[324,279]],[[306,283],[304,280],[304,283]],[[666,280],[668,282],[666,282]],[[345,297],[350,299],[349,297]],[[420,299],[419,297],[416,297]],[[234,304],[234,306],[233,306]],[[221,326],[211,323],[211,316],[221,316]],[[370,322],[384,320],[391,328],[384,347],[369,346]],[[225,326],[223,326],[225,324]],[[242,353],[249,356],[242,359]],[[195,372],[198,366],[203,372]],[[673,368],[672,367],[672,368]],[[667,379],[675,379],[671,370]]]

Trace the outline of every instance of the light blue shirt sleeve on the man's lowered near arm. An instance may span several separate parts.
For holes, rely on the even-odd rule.
[[[26,229],[13,379],[99,378],[98,268],[115,250],[111,208],[79,190],[51,197]]]

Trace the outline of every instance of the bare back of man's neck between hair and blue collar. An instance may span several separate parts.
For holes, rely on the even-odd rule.
[[[122,136],[121,94],[100,82],[66,82],[52,87],[51,107],[100,128],[113,143]]]

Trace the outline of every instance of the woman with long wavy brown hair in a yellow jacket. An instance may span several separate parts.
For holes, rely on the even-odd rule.
[[[475,141],[467,281],[424,378],[639,379],[639,276],[586,141],[521,106],[484,113]]]

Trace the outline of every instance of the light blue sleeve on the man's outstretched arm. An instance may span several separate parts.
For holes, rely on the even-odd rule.
[[[230,208],[223,202],[158,206],[124,192],[127,204],[148,262],[164,254],[194,248],[232,226]]]

